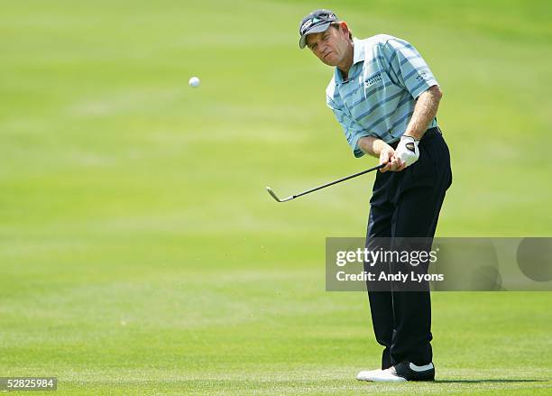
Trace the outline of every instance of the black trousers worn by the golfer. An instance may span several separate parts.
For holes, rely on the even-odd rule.
[[[400,172],[377,173],[366,246],[373,238],[433,238],[451,182],[448,147],[438,127],[431,128],[419,143],[418,161]],[[431,362],[429,291],[368,290],[368,297],[375,337],[384,346],[382,369],[404,360]]]

